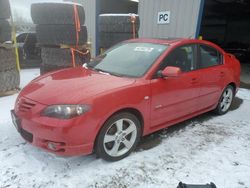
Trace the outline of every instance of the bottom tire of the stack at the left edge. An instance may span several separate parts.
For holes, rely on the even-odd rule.
[[[0,93],[18,89],[20,84],[20,75],[16,69],[0,72]]]

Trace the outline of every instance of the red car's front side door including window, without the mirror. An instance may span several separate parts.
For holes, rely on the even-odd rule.
[[[177,47],[163,60],[159,70],[180,67],[179,77],[155,78],[151,81],[151,126],[160,126],[196,111],[200,75],[196,70],[195,45]]]

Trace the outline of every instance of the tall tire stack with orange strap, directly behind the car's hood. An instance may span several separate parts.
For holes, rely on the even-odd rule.
[[[72,67],[71,48],[84,46],[88,38],[84,8],[73,3],[36,3],[31,5],[31,17],[41,47],[41,74]],[[76,66],[82,65],[81,55],[74,54]]]

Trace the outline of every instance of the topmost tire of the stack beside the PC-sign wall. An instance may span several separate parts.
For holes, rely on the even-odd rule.
[[[138,33],[140,28],[140,19],[136,15],[135,31]],[[130,14],[103,14],[99,16],[99,31],[111,33],[133,32],[133,24]]]

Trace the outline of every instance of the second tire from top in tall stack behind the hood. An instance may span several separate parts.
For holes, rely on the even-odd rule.
[[[37,25],[37,42],[40,45],[76,45],[76,27],[75,25]],[[87,42],[87,28],[81,26],[79,32],[78,45]]]

